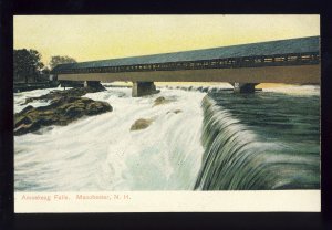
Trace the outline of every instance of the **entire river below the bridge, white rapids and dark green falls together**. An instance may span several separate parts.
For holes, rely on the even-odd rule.
[[[113,112],[15,136],[15,191],[320,188],[319,88],[170,88],[141,98],[131,88],[87,94]],[[49,91],[14,94],[14,111]],[[169,103],[155,106],[159,96]],[[139,118],[153,122],[131,130]]]

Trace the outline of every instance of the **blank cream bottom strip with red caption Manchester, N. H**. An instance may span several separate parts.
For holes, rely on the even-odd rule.
[[[15,213],[271,211],[320,212],[321,191],[14,192]]]

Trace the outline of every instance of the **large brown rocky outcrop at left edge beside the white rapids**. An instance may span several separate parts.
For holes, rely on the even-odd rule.
[[[68,125],[83,116],[92,116],[112,111],[112,106],[106,102],[55,94],[56,96],[52,96],[53,100],[48,106],[33,107],[29,105],[20,113],[17,113],[14,115],[14,135],[35,132],[41,127],[50,125]],[[45,95],[45,97],[48,96]]]

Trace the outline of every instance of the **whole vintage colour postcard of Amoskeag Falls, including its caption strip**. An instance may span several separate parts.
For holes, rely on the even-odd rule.
[[[14,15],[14,211],[321,210],[320,15]]]

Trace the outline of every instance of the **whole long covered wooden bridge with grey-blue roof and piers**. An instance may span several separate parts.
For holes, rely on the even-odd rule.
[[[52,74],[87,84],[132,81],[133,96],[153,93],[154,82],[229,82],[237,92],[259,83],[319,84],[320,36],[61,64]]]

